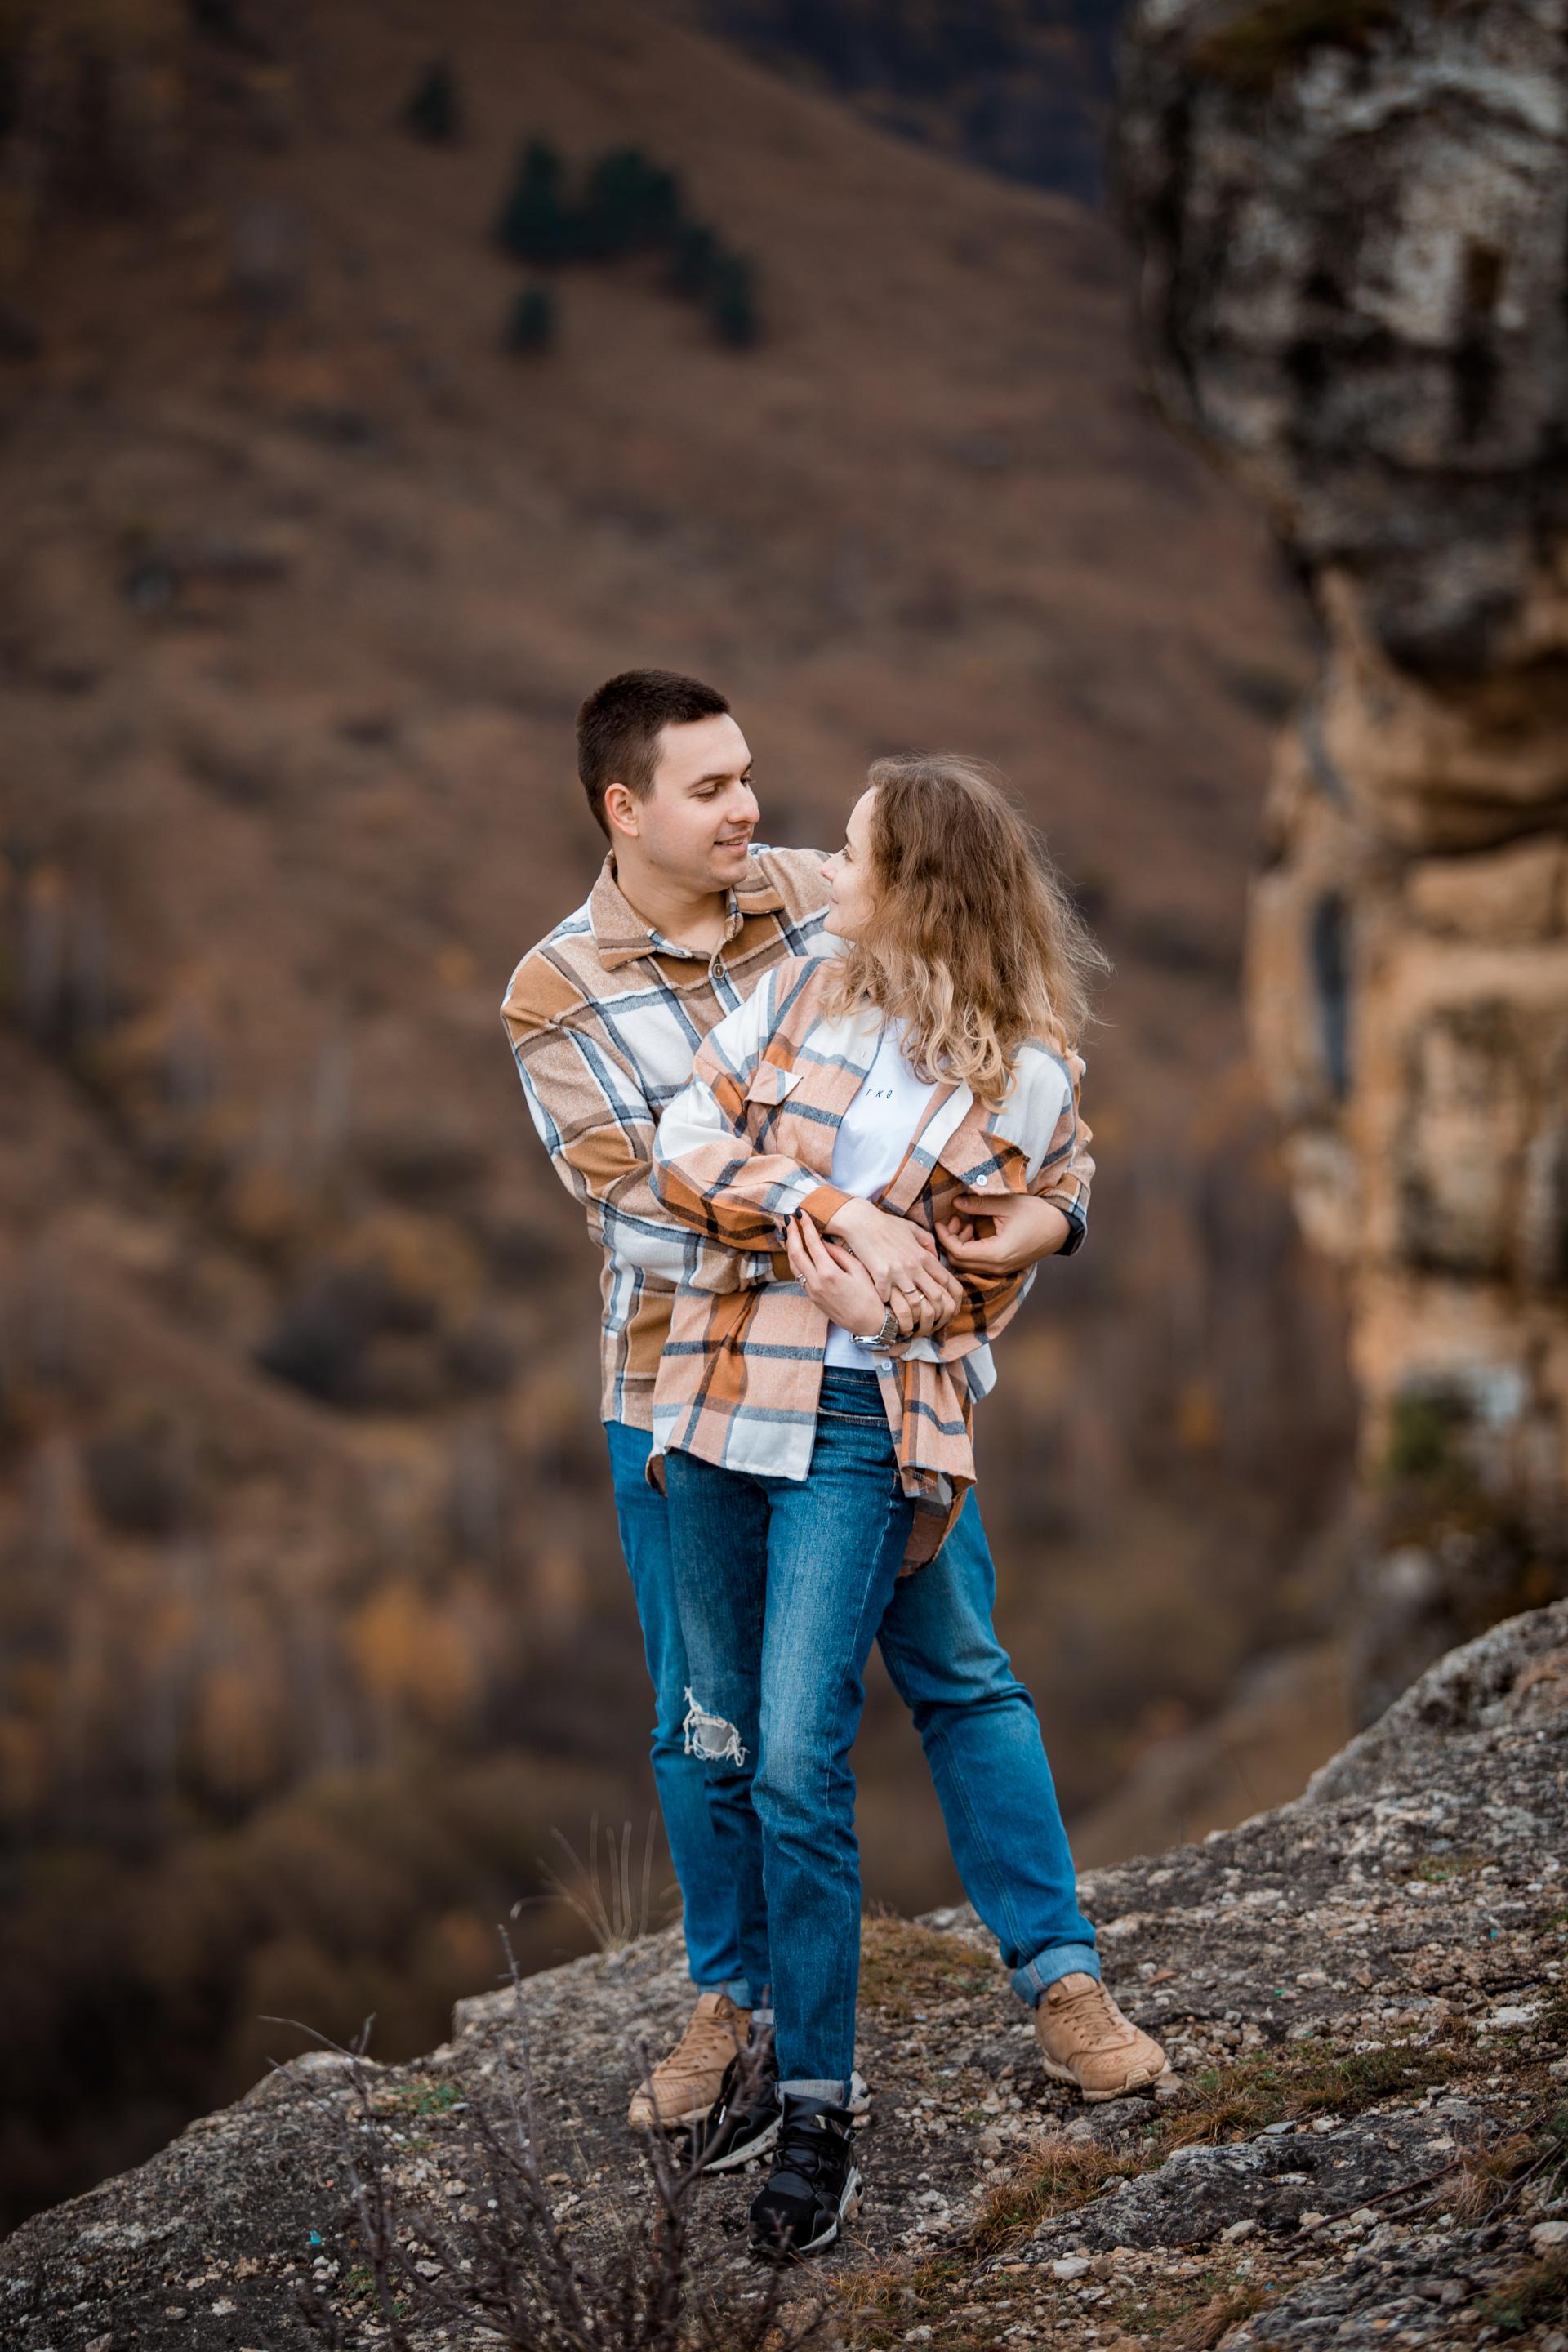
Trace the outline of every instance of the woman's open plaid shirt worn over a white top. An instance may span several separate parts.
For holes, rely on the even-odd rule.
[[[844,1207],[832,1145],[877,1054],[882,1014],[830,1018],[827,981],[820,957],[776,964],[705,1040],[691,1084],[658,1124],[654,1188],[703,1244],[750,1258],[778,1249],[797,1211],[827,1225]],[[969,1087],[938,1087],[882,1207],[933,1230],[957,1192],[1030,1190],[1077,1230],[1093,1176],[1081,1077],[1077,1054],[1030,1040],[999,1108],[976,1103]],[[898,1472],[917,1505],[905,1566],[931,1559],[973,1484],[971,1409],[997,1378],[990,1341],[1018,1312],[1034,1268],[959,1279],[964,1305],[945,1331],[877,1357]],[[654,1390],[654,1461],[682,1449],[804,1479],[825,1343],[827,1317],[788,1275],[682,1284]]]

